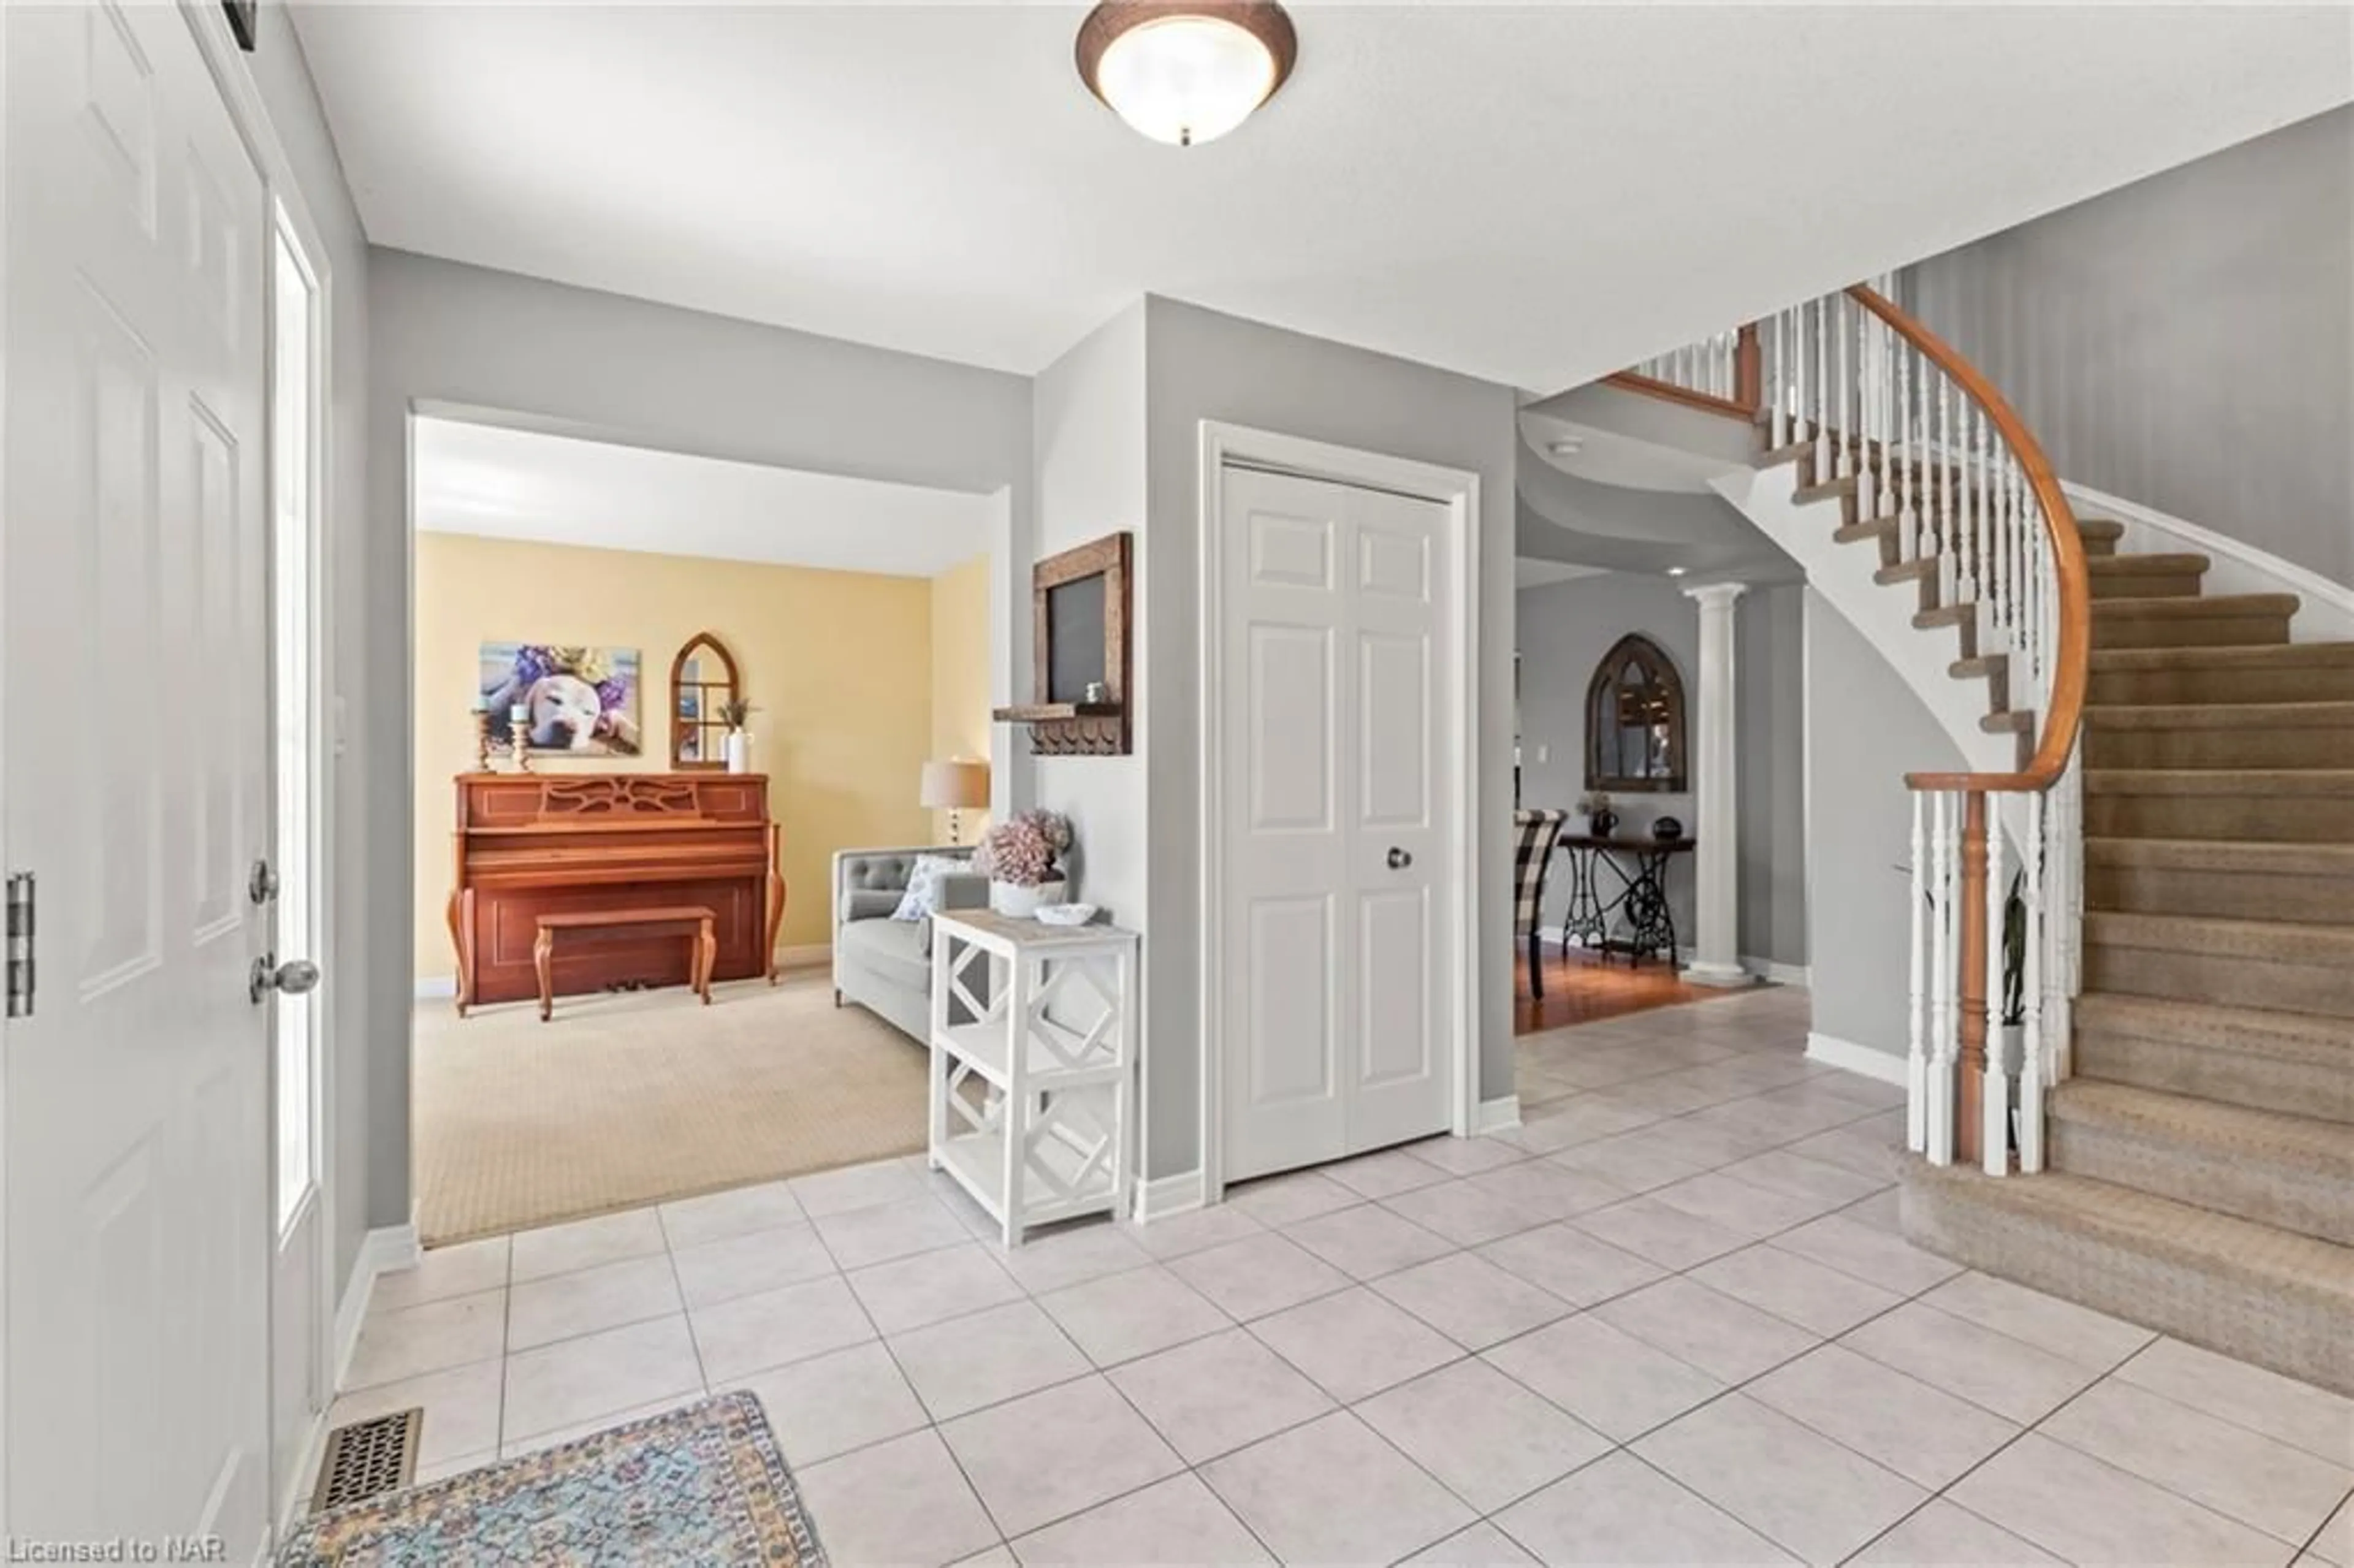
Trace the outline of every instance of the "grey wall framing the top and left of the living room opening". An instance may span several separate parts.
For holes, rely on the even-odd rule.
[[[807,332],[577,290],[454,261],[370,257],[365,652],[355,727],[370,763],[367,1220],[410,1217],[407,419],[487,410],[508,424],[824,473],[1010,490],[1031,549],[1031,381]],[[1015,624],[1015,664],[1029,659]],[[395,716],[386,720],[384,716]],[[1019,796],[1017,796],[1019,798]],[[791,831],[791,824],[786,824]],[[796,899],[824,897],[796,888]]]

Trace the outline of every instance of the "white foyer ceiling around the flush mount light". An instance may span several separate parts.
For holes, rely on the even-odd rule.
[[[379,245],[1033,372],[1161,292],[1558,391],[2354,94],[2345,7],[1295,5],[1156,146],[1085,5],[299,28]]]

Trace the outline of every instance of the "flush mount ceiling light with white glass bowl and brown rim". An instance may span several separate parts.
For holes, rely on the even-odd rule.
[[[1231,132],[1276,97],[1297,57],[1274,0],[1104,0],[1078,26],[1078,80],[1170,146]]]

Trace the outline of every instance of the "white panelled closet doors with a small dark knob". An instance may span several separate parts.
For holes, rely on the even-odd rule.
[[[1222,471],[1224,1177],[1450,1125],[1450,511]]]

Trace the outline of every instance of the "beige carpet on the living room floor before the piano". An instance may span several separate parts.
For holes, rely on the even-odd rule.
[[[824,972],[687,991],[417,1008],[426,1245],[913,1154],[925,1057]]]

